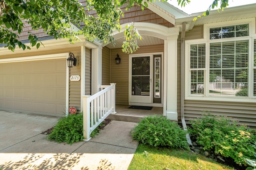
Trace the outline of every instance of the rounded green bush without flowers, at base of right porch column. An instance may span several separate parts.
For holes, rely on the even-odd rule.
[[[150,146],[169,146],[189,149],[186,132],[164,116],[145,117],[131,131],[133,139]]]

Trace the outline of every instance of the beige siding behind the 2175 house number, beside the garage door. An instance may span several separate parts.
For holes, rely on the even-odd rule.
[[[70,68],[70,76],[81,76],[81,49],[70,51],[76,57],[78,63]],[[81,109],[81,81],[69,81],[69,107],[75,107],[80,112]]]

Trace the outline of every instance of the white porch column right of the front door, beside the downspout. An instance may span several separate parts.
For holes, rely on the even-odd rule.
[[[165,68],[164,68],[164,94],[166,100],[166,117],[171,120],[178,120],[177,113],[177,39],[178,35],[167,37],[165,45]],[[165,110],[165,109],[164,109]]]

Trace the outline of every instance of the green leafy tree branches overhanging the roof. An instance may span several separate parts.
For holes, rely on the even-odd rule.
[[[113,42],[112,31],[121,29],[119,19],[123,13],[120,6],[126,5],[128,10],[134,5],[140,5],[143,10],[148,7],[148,2],[153,0],[87,0],[84,7],[78,0],[0,0],[0,43],[4,43],[11,51],[17,45],[23,50],[33,46],[39,48],[42,44],[40,39],[30,31],[27,31],[30,45],[20,41],[19,35],[24,31],[25,25],[31,25],[33,30],[43,29],[55,39],[66,38],[70,43],[78,40],[78,35],[84,35],[89,41],[98,39],[102,43]],[[190,0],[177,2],[185,6]],[[210,8],[217,7],[218,2],[221,10],[228,5],[228,0],[214,0],[202,16],[208,15]],[[88,10],[96,10],[96,15],[90,15]],[[74,31],[72,24],[82,27],[79,31]],[[141,37],[132,24],[126,27],[124,34],[126,41],[123,51],[132,53],[138,48],[137,39]]]

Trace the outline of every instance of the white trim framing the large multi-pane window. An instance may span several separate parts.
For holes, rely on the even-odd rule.
[[[241,25],[249,23],[249,36],[246,37],[233,37],[224,39],[210,39],[210,28],[214,27],[225,27],[230,25]],[[256,103],[256,97],[253,97],[253,55],[254,55],[254,39],[256,39],[256,21],[255,18],[236,20],[236,21],[226,21],[218,23],[204,24],[204,38],[203,39],[193,39],[185,41],[185,100],[204,100],[204,101],[226,101],[226,102],[252,102]],[[248,97],[219,97],[219,96],[209,96],[209,46],[210,43],[225,42],[225,41],[239,41],[248,39],[249,41],[249,60],[250,64],[248,73]],[[204,78],[204,94],[203,95],[190,95],[190,45],[193,44],[205,44],[206,45],[206,71]]]

